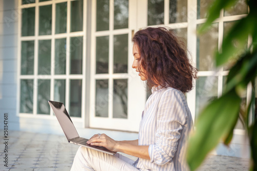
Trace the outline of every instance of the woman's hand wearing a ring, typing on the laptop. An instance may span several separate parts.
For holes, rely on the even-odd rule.
[[[87,144],[103,146],[108,150],[117,152],[116,146],[118,144],[118,141],[113,140],[105,134],[96,134],[87,141]]]

